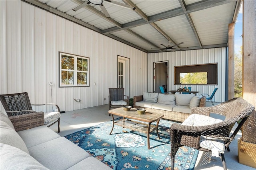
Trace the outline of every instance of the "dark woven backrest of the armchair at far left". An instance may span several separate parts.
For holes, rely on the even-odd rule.
[[[28,93],[16,93],[16,94],[1,94],[0,95],[2,105],[6,111],[22,111],[32,110],[32,106],[28,97]],[[7,113],[8,116],[27,114],[31,112],[16,112]]]

